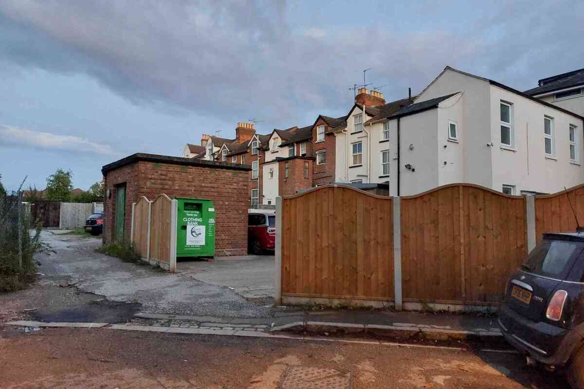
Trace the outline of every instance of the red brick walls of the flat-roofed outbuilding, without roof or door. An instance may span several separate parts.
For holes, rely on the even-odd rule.
[[[213,201],[215,207],[215,255],[247,253],[249,172],[218,167],[171,163],[135,162],[106,173],[106,187],[126,183],[126,236],[130,234],[131,204],[141,195],[154,200],[165,193],[170,198],[192,197]],[[111,241],[115,198],[106,199],[106,234]]]

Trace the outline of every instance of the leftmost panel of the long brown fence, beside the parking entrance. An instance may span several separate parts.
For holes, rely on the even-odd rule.
[[[282,204],[283,296],[392,300],[393,206],[325,185]]]

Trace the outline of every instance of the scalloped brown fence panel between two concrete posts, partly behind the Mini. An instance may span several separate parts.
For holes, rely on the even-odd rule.
[[[525,199],[454,184],[401,202],[404,300],[498,302],[527,253]]]

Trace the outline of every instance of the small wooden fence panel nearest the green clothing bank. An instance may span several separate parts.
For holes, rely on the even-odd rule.
[[[172,200],[161,194],[152,202],[150,216],[150,258],[167,265],[170,264],[171,206]]]

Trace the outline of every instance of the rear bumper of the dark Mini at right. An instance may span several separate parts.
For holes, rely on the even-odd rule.
[[[507,342],[544,365],[564,365],[572,351],[582,344],[576,331],[544,322],[531,321],[506,304],[499,306],[499,328]]]

